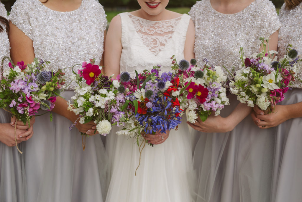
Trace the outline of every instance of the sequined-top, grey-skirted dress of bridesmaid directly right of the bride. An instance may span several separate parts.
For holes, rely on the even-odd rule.
[[[195,58],[210,64],[239,69],[239,49],[245,56],[258,52],[260,37],[269,37],[280,27],[275,6],[255,0],[235,14],[214,10],[210,0],[196,2],[189,15],[195,25]],[[225,71],[226,75],[227,72]],[[230,95],[230,105],[221,111],[228,116],[239,104]],[[227,133],[202,133],[194,151],[198,176],[196,200],[221,202],[269,201],[275,129],[262,130],[250,116]]]

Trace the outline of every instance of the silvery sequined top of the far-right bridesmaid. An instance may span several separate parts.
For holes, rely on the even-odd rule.
[[[282,26],[279,30],[278,58],[283,58],[288,44],[293,45],[292,48],[298,51],[300,59],[302,59],[302,3],[292,10],[287,10],[285,4],[279,11],[279,18]],[[297,76],[302,79],[301,63],[296,69]],[[291,87],[302,88],[300,81],[294,81]]]

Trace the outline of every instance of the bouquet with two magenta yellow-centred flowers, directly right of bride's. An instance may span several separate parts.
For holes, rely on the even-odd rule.
[[[223,87],[226,76],[222,69],[209,65],[207,59],[203,61],[205,64],[200,68],[196,60],[191,59],[189,68],[183,72],[185,84],[189,84],[184,94],[188,99],[187,117],[190,123],[194,123],[198,117],[205,121],[212,112],[217,116],[225,105],[230,104],[226,88]],[[178,66],[184,62],[189,65],[188,61],[180,61]]]

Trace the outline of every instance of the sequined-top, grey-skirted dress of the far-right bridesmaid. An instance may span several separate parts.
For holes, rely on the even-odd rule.
[[[279,30],[278,57],[283,58],[288,44],[292,44],[302,57],[302,3],[292,10],[285,4],[279,11],[282,26]],[[295,72],[302,78],[301,62]],[[292,90],[285,94],[282,105],[302,102],[302,84],[295,81]],[[276,127],[275,162],[272,181],[271,201],[302,201],[302,118],[285,121]]]

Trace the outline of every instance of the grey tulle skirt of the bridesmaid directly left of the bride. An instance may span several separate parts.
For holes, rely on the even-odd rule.
[[[70,100],[73,91],[62,95]],[[25,142],[25,169],[28,201],[103,201],[106,188],[107,155],[100,135],[82,136],[72,123],[53,113],[36,118],[34,136]]]

